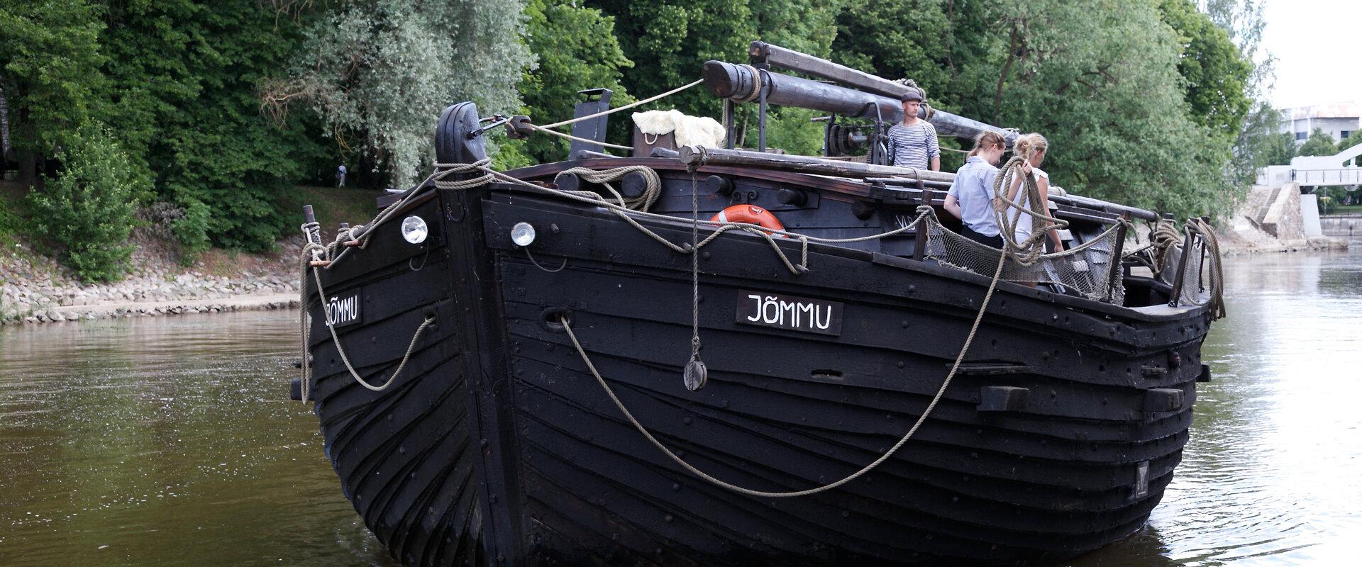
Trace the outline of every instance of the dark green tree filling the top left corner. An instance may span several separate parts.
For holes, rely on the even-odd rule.
[[[38,181],[35,163],[63,132],[101,114],[99,18],[84,0],[0,0],[0,90],[25,185]]]

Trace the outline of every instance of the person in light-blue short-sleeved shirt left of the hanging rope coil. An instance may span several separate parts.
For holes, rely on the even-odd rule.
[[[997,132],[977,136],[974,150],[945,194],[945,209],[960,219],[960,234],[996,249],[1002,249],[1002,237],[993,215],[993,181],[998,177],[998,159],[1007,150],[1007,140]]]

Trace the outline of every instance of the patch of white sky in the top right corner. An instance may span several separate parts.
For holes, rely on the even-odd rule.
[[[1263,46],[1276,56],[1279,109],[1362,103],[1362,0],[1265,0]]]

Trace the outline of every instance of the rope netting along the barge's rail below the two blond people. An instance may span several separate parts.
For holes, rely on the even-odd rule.
[[[941,226],[933,215],[928,215],[925,222],[928,231],[925,258],[985,276],[993,273],[1002,250],[971,241]],[[1125,299],[1121,272],[1117,271],[1117,276],[1111,277],[1111,261],[1120,249],[1117,228],[1120,224],[1113,224],[1088,242],[1069,250],[1039,254],[1030,264],[1008,258],[1002,262],[1002,275],[998,279],[1057,284],[1087,299],[1121,305]]]

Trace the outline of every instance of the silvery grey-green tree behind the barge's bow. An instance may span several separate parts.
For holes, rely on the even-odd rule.
[[[286,79],[264,106],[285,116],[305,101],[342,147],[392,185],[417,181],[433,156],[436,118],[474,101],[479,111],[519,106],[515,84],[533,57],[519,0],[349,0],[309,24]]]

